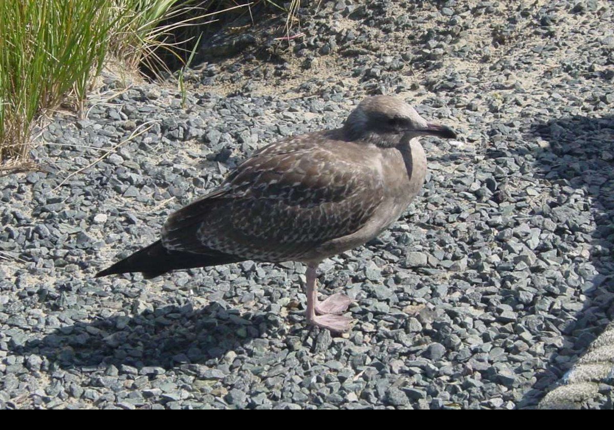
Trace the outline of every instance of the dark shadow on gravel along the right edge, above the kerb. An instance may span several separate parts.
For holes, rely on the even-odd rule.
[[[553,119],[534,124],[529,133],[527,140],[542,139],[543,150],[534,154],[535,176],[560,190],[558,196],[554,191],[556,201],[536,209],[536,214],[555,221],[559,236],[586,242],[589,262],[577,266],[577,275],[591,280],[576,287],[586,297],[581,310],[559,311],[558,318],[565,319],[556,326],[562,346],[551,354],[548,368],[536,374],[537,382],[518,404],[521,408],[535,407],[614,319],[614,115]],[[591,206],[580,210],[582,216],[591,214],[587,219],[575,215],[586,198],[575,201],[574,195],[589,197]],[[559,256],[565,252],[559,249]]]

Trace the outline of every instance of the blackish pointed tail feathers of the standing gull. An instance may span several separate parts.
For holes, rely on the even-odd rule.
[[[109,268],[96,273],[96,278],[114,275],[115,273],[142,272],[145,279],[155,278],[166,272],[191,267],[207,267],[217,264],[243,261],[241,257],[224,254],[211,249],[206,254],[193,252],[170,251],[158,240],[146,248],[134,252]]]

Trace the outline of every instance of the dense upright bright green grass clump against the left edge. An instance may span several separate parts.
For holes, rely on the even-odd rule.
[[[0,2],[0,160],[25,156],[42,108],[71,90],[84,98],[111,26],[104,0]]]

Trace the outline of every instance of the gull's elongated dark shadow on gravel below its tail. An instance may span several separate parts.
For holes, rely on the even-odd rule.
[[[171,369],[241,350],[276,324],[266,315],[244,318],[249,317],[235,315],[217,303],[196,311],[191,305],[168,306],[153,312],[146,310],[132,318],[113,316],[76,322],[12,350],[18,354],[41,354],[62,369],[96,370],[110,364],[139,370]]]

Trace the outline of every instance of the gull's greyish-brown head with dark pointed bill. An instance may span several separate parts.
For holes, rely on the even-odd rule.
[[[406,144],[423,135],[456,138],[451,128],[427,122],[416,109],[392,96],[365,98],[349,114],[343,132],[351,141],[366,141],[380,147]]]

